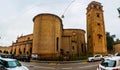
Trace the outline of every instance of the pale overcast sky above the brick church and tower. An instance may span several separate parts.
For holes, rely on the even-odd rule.
[[[21,35],[33,33],[33,18],[41,13],[55,14],[63,28],[86,31],[86,8],[93,0],[0,0],[0,46],[10,46]],[[94,0],[103,5],[106,32],[120,38],[120,0]]]

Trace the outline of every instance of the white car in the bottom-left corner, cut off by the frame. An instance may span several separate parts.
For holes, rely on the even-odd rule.
[[[0,67],[4,70],[29,70],[21,65],[16,59],[0,58]]]

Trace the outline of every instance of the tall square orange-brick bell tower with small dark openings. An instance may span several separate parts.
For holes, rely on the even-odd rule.
[[[87,53],[107,54],[106,34],[104,25],[103,6],[92,1],[87,7]]]

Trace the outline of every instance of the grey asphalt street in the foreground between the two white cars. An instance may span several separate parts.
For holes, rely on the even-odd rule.
[[[39,63],[21,62],[29,70],[96,70],[100,62],[76,62],[76,63]]]

